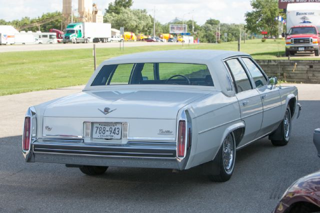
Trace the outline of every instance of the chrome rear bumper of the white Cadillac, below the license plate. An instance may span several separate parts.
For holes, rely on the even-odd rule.
[[[185,168],[186,160],[176,159],[175,142],[133,142],[125,145],[84,143],[80,139],[38,139],[32,142],[28,162],[74,165]]]

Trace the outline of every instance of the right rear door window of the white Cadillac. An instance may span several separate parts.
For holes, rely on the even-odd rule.
[[[252,89],[250,80],[242,67],[240,61],[237,58],[229,59],[226,64],[234,79],[237,92],[246,91]]]

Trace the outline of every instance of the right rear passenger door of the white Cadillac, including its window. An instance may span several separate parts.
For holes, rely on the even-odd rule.
[[[245,131],[238,147],[255,139],[262,123],[262,101],[259,92],[252,86],[248,74],[239,58],[230,58],[225,63],[231,73],[236,98],[240,106]]]

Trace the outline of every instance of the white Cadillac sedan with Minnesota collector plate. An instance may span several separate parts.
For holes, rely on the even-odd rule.
[[[297,89],[276,86],[250,55],[171,50],[105,60],[83,91],[31,106],[27,162],[63,163],[89,175],[108,166],[188,169],[226,181],[235,151],[269,136],[285,145],[301,109]]]

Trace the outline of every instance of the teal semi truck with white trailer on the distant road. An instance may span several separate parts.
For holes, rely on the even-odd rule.
[[[62,42],[107,42],[109,37],[111,37],[110,23],[69,23],[66,26]]]

